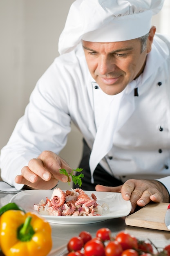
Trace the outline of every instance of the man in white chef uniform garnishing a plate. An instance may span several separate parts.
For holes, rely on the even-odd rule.
[[[152,15],[163,0],[76,0],[60,56],[39,79],[2,148],[2,179],[52,189],[72,170],[58,154],[71,121],[83,135],[82,189],[144,206],[170,201],[170,38]],[[67,160],[67,159],[66,159]]]

